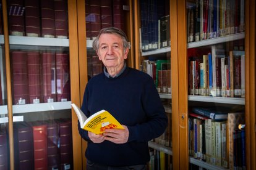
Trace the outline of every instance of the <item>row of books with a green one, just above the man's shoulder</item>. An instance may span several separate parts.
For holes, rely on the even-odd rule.
[[[159,93],[171,94],[171,60],[142,60],[141,70],[153,78]]]

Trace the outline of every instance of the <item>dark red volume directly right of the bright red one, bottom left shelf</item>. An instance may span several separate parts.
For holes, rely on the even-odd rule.
[[[59,141],[59,127],[53,121],[46,121],[47,123],[47,154],[48,154],[48,169],[59,169],[60,155],[58,148]]]

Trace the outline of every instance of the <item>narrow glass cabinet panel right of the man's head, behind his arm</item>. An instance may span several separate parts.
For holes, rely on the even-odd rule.
[[[156,89],[168,116],[168,127],[163,135],[148,142],[150,162],[148,166],[172,169],[171,131],[171,48],[169,1],[139,1],[140,7],[140,70],[155,81]],[[160,157],[158,157],[160,156]],[[162,164],[159,159],[165,161]]]

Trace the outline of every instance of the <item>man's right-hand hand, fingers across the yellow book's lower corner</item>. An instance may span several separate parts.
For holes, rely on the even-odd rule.
[[[124,129],[105,129],[103,138],[115,144],[124,144],[128,141],[129,130],[127,126],[122,125]]]

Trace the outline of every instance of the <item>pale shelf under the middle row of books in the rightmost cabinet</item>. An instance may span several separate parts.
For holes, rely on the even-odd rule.
[[[236,97],[210,97],[210,96],[202,96],[202,95],[189,95],[190,101],[197,102],[211,102],[211,103],[227,103],[234,105],[245,105],[244,98],[236,98]]]

